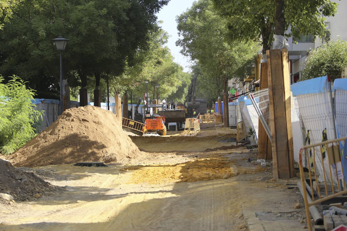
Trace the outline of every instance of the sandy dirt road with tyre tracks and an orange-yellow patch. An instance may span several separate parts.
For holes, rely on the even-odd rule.
[[[293,208],[301,195],[286,185],[298,178],[272,179],[271,166],[247,161],[256,149],[229,142],[235,136],[132,136],[144,154],[131,165],[34,167],[66,190],[1,203],[0,230],[304,230],[304,209]]]

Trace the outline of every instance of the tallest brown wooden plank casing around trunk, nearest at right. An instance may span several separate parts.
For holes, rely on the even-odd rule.
[[[290,86],[287,86],[289,81],[288,69],[288,51],[268,50],[268,82],[269,82],[269,109],[270,109],[270,129],[272,137],[272,159],[273,159],[273,177],[274,178],[289,178],[291,174],[291,152],[289,149],[291,133],[291,118],[290,118],[290,91],[289,99],[286,92]],[[287,58],[282,60],[282,55]],[[287,68],[285,67],[287,66]],[[285,68],[283,70],[283,68]],[[285,73],[285,74],[283,74]],[[288,78],[288,81],[283,78]],[[287,112],[287,100],[289,100],[289,113]],[[289,114],[289,118],[288,117]],[[290,121],[290,127],[288,125]],[[294,166],[293,166],[294,167]]]

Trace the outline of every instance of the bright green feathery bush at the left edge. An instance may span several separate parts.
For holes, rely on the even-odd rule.
[[[3,81],[0,76],[0,152],[10,154],[35,136],[34,125],[42,114],[30,101],[34,90],[22,79],[14,75],[8,83]]]

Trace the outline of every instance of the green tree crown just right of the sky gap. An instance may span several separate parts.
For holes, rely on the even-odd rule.
[[[215,100],[228,91],[228,79],[243,81],[260,47],[255,42],[229,40],[227,20],[219,16],[210,0],[194,2],[176,21],[180,36],[176,45],[199,65],[200,94]]]

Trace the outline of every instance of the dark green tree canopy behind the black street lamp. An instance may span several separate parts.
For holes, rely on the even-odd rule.
[[[156,12],[168,0],[23,0],[11,24],[0,33],[0,71],[17,73],[33,89],[58,92],[59,58],[51,39],[69,39],[64,52],[64,77],[74,87],[87,77],[100,85],[103,76],[120,75],[135,64],[156,27]]]

